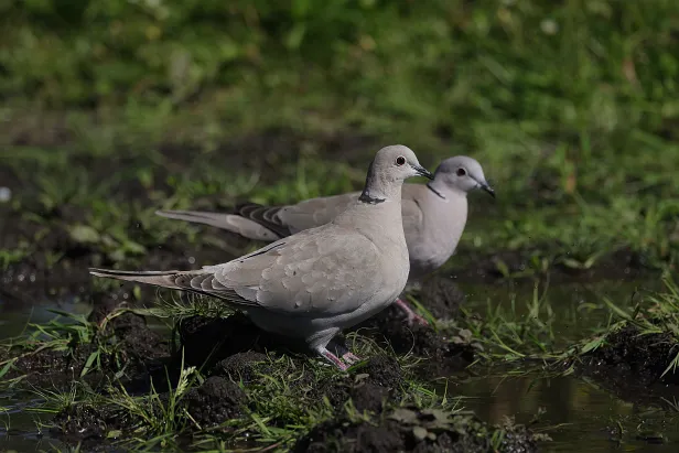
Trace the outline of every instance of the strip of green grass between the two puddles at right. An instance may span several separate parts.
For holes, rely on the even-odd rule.
[[[573,373],[573,365],[596,349],[618,347],[612,345],[610,338],[632,327],[634,336],[642,338],[655,335],[658,338],[656,343],[666,345],[669,358],[661,365],[664,371],[658,376],[661,378],[667,374],[673,375],[679,368],[679,287],[671,274],[665,274],[662,281],[665,288],[661,291],[629,294],[634,299],[632,303],[591,293],[585,298],[588,301],[576,308],[576,316],[590,316],[594,311],[604,316],[573,332],[563,331],[564,325],[572,320],[557,319],[565,313],[563,310],[558,311],[545,299],[548,285],[540,289],[538,283],[530,300],[513,298],[509,303],[488,301],[485,310],[464,309],[463,317],[456,322],[456,326],[470,332],[471,338],[483,345],[478,352],[478,364],[505,369],[507,364],[522,363],[524,366],[516,373],[541,369],[551,376]],[[629,360],[643,359],[645,347],[639,346],[639,350],[634,352],[636,355],[630,356]],[[511,374],[515,374],[514,370],[509,371]]]

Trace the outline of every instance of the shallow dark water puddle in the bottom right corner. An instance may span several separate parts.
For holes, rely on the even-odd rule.
[[[545,432],[552,438],[541,445],[545,452],[669,453],[679,445],[679,413],[622,401],[572,376],[484,377],[450,390],[463,395],[464,408],[491,423],[514,417],[529,424],[543,411],[534,429],[547,427]],[[657,443],[658,434],[664,443]]]

